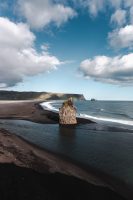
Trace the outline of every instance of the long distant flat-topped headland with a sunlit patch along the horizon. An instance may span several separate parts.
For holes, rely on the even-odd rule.
[[[69,97],[75,100],[85,100],[82,94],[0,91],[0,100],[65,100]]]

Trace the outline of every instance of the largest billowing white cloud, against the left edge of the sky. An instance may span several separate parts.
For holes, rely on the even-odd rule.
[[[35,35],[24,23],[0,17],[0,87],[15,86],[25,76],[34,76],[57,68],[55,56],[34,48]]]

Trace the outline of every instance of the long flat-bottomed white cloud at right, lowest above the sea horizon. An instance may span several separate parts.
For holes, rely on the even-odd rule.
[[[95,81],[118,85],[133,84],[133,53],[116,56],[96,56],[81,62],[80,70],[85,77]]]

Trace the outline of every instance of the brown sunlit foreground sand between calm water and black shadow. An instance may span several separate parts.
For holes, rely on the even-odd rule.
[[[98,180],[98,178],[70,161],[48,152],[5,129],[0,129],[0,152],[1,154],[6,154],[7,151],[10,158],[8,157],[2,160],[2,157],[0,157],[0,163],[11,162],[20,167],[34,169],[40,173],[58,172],[69,176],[75,176],[97,186],[106,187],[101,180]]]

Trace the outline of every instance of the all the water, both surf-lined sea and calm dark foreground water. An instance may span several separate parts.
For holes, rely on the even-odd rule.
[[[58,112],[62,101],[44,109]],[[96,123],[60,127],[25,120],[0,120],[0,128],[76,163],[118,193],[133,199],[133,102],[75,101],[77,116]]]

